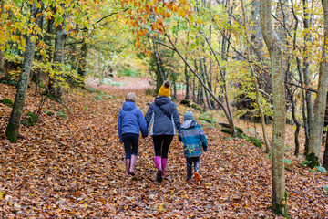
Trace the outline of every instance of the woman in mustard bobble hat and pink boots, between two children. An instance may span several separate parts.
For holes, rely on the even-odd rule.
[[[150,104],[146,113],[147,128],[153,138],[155,158],[158,169],[156,180],[163,180],[168,162],[169,145],[180,128],[177,106],[169,98],[169,80],[164,81],[159,89],[159,96]]]

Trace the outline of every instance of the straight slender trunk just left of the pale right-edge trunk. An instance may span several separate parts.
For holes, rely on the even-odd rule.
[[[304,84],[306,87],[310,87],[310,63],[309,63],[309,56],[311,55],[309,48],[306,46],[307,43],[312,42],[312,36],[311,36],[311,19],[310,19],[310,13],[309,13],[309,1],[308,0],[302,0],[303,3],[303,11],[304,11],[304,54],[305,57],[303,59],[303,78],[304,78]],[[305,90],[305,101],[306,101],[306,110],[307,110],[307,132],[308,134],[305,136],[305,151],[308,151],[308,148],[310,146],[310,136],[311,136],[311,130],[313,128],[313,99],[312,99],[312,92],[309,90]]]

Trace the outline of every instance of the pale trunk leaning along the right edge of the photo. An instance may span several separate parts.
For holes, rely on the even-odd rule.
[[[328,83],[328,0],[323,0],[323,12],[324,12],[324,43],[323,43],[323,58],[319,68],[319,84],[317,98],[314,104],[314,120],[313,129],[311,131],[309,154],[314,155],[319,159],[323,138],[323,120],[324,110],[326,107],[327,97],[327,83]]]

